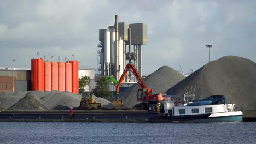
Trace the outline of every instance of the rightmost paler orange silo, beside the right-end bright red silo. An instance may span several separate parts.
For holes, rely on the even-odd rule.
[[[72,92],[72,65],[65,63],[65,91]]]

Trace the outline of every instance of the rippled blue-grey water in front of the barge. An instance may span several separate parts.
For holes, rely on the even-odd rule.
[[[0,122],[0,143],[256,143],[256,122]]]

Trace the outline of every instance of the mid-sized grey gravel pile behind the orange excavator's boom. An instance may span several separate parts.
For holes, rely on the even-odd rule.
[[[184,77],[177,70],[164,66],[147,76],[144,82],[148,88],[153,88],[154,93],[164,93],[167,89],[184,79]],[[123,100],[123,107],[131,108],[139,103],[137,101],[137,89],[139,88],[141,87],[136,83],[119,94],[119,99]]]

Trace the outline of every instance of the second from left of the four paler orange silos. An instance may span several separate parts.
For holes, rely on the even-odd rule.
[[[58,63],[51,62],[51,91],[58,90]]]

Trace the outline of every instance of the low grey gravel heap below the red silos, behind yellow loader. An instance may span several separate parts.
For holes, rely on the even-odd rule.
[[[69,107],[78,107],[81,96],[71,92],[59,91],[28,91],[2,92],[0,104],[8,110],[68,110]],[[110,101],[94,96],[96,103],[101,107],[111,109]]]

